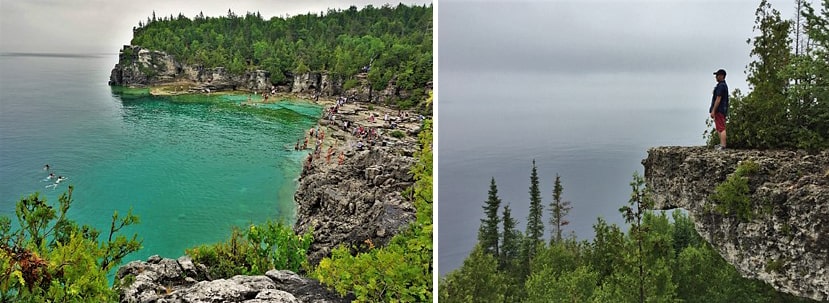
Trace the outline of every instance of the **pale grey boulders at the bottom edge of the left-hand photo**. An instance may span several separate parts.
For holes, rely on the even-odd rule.
[[[167,259],[152,256],[118,269],[122,285],[120,302],[129,303],[304,303],[349,302],[321,286],[287,270],[271,270],[261,276],[234,276],[210,280],[207,269],[190,257]]]

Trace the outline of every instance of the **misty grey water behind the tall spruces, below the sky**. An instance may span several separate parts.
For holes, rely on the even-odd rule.
[[[509,75],[478,77],[441,73],[441,275],[460,267],[477,242],[491,177],[523,232],[535,159],[547,239],[546,205],[552,200],[556,174],[561,176],[564,200],[573,206],[565,231],[592,239],[597,217],[624,224],[618,209],[630,197],[634,171],[643,172],[641,160],[649,147],[703,144],[707,84],[698,95],[654,97],[653,87],[647,85],[652,79],[636,75],[552,76],[535,82],[505,79]],[[509,81],[520,83],[504,85]]]

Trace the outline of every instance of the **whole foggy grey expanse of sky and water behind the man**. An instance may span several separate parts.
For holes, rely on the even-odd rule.
[[[728,70],[729,88],[746,91],[758,4],[441,1],[440,274],[476,243],[491,177],[526,228],[533,159],[543,204],[561,176],[566,231],[591,239],[597,217],[622,225],[647,149],[703,144],[712,73]]]

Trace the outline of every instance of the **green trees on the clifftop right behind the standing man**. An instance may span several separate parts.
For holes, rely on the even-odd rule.
[[[793,20],[767,1],[756,11],[749,92],[735,90],[728,111],[728,146],[829,148],[829,0],[815,9],[796,1]],[[708,136],[705,134],[704,136]],[[718,142],[712,132],[709,144]]]

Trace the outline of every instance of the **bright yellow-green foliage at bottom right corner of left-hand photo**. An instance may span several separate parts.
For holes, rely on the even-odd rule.
[[[382,248],[351,255],[345,246],[320,261],[311,276],[357,302],[432,301],[432,121],[419,135],[421,150],[412,167],[415,184],[405,197],[414,199],[417,219]],[[494,257],[488,257],[494,260]],[[493,261],[494,265],[497,263]]]

